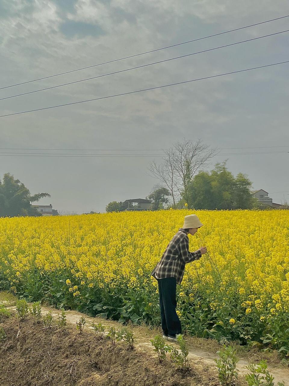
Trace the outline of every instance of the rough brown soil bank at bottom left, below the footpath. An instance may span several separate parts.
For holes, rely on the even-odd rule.
[[[60,332],[33,320],[5,318],[7,338],[0,346],[2,386],[217,386],[215,377],[191,367],[181,372],[160,365],[141,349],[97,340],[90,332],[69,328]]]

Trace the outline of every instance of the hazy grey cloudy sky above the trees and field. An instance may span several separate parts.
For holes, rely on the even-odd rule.
[[[288,14],[286,0],[0,0],[0,87]],[[135,58],[3,88],[0,98],[287,29],[289,17]],[[0,100],[0,115],[287,61],[288,47],[289,32],[284,32]],[[247,174],[255,190],[264,189],[274,202],[280,203],[289,198],[288,72],[289,63],[2,117],[0,178],[4,173],[11,173],[32,194],[50,193],[50,198],[39,203],[52,203],[63,213],[104,212],[110,201],[144,198],[158,183],[149,175],[148,166],[153,159],[161,162],[161,157],[139,155],[162,154],[159,149],[168,149],[183,138],[201,139],[209,147],[220,149],[208,169],[228,159],[227,167],[234,175]],[[249,149],[253,147],[257,149]],[[42,154],[36,157],[10,156],[5,154],[7,152],[137,154],[138,157],[44,157]],[[227,155],[236,152],[265,154]]]

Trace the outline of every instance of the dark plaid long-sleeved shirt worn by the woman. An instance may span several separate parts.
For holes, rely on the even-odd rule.
[[[156,279],[176,278],[181,284],[183,280],[185,265],[202,256],[200,250],[189,252],[189,238],[184,229],[179,229],[166,247],[160,262],[155,266],[151,275]],[[157,276],[157,277],[156,277]]]

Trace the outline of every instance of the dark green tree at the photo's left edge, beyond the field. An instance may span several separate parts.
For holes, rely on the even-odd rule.
[[[31,203],[43,197],[50,195],[37,193],[31,196],[29,189],[19,179],[5,173],[2,182],[0,181],[0,217],[41,216],[36,208],[32,208]]]

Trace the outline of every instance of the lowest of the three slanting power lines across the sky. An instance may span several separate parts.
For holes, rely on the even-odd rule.
[[[239,70],[239,71],[232,71],[232,72],[224,73],[224,74],[206,76],[204,78],[197,78],[197,79],[187,80],[187,81],[178,82],[178,83],[171,83],[169,85],[150,87],[150,88],[144,88],[142,90],[129,91],[127,93],[109,95],[108,97],[93,98],[93,99],[82,100],[82,101],[79,101],[79,102],[64,103],[62,105],[56,105],[56,106],[50,106],[50,107],[42,107],[42,108],[35,108],[34,110],[26,110],[26,111],[21,111],[21,112],[12,113],[12,114],[0,115],[0,118],[10,117],[11,115],[19,115],[19,114],[25,114],[25,113],[32,113],[32,112],[40,111],[40,110],[48,110],[50,108],[77,105],[79,103],[93,102],[93,101],[96,101],[96,100],[103,100],[103,99],[109,99],[109,98],[114,98],[114,97],[121,97],[123,95],[130,95],[130,94],[140,93],[140,92],[143,92],[143,91],[157,90],[159,88],[165,88],[165,87],[170,87],[170,86],[183,85],[185,83],[191,83],[191,82],[195,82],[195,81],[199,81],[199,80],[205,80],[205,79],[218,78],[220,76],[225,76],[225,75],[230,75],[230,74],[237,74],[237,73],[241,73],[241,72],[245,72],[245,71],[251,71],[251,70],[255,70],[255,69],[259,69],[259,68],[277,66],[278,64],[284,64],[284,63],[289,63],[289,60],[284,61],[284,62],[279,62],[279,63],[266,64],[265,66],[258,66],[258,67],[246,68],[246,69]]]

